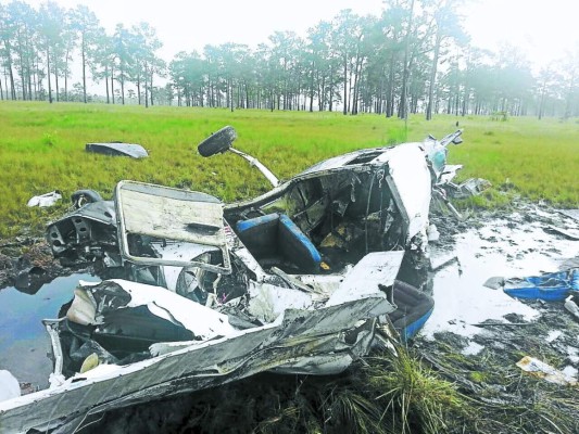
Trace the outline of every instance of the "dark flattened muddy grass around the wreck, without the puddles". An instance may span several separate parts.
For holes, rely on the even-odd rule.
[[[515,224],[507,214],[505,209],[486,210],[460,222],[439,214],[433,220],[440,242],[452,243],[453,234],[498,215],[505,216],[505,225]],[[22,276],[35,267],[38,282],[72,272],[52,260],[40,239],[0,241],[0,288],[18,279],[22,283]],[[532,356],[557,369],[578,369],[568,347],[578,346],[579,322],[562,303],[526,303],[540,311],[539,318],[525,321],[513,314],[505,318],[513,326],[481,323],[481,332],[471,337],[483,346],[476,355],[463,355],[467,340],[451,332],[436,333],[432,340],[418,336],[412,346],[399,347],[399,353],[413,360],[410,369],[416,372],[410,374],[398,371],[399,363],[390,354],[374,354],[340,375],[262,373],[87,416],[70,427],[80,433],[579,433],[577,386],[549,383],[515,365]],[[561,334],[547,342],[552,331]],[[392,374],[389,382],[381,381],[387,372]],[[443,390],[443,394],[418,396],[413,391],[418,383],[408,383],[407,378],[415,373],[431,381],[423,395],[430,394],[428,387]],[[440,396],[448,401],[428,407],[436,404],[428,399]],[[425,407],[433,410],[425,411]]]

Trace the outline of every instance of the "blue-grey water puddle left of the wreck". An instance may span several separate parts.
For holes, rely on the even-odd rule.
[[[100,279],[78,273],[56,278],[36,294],[11,286],[0,291],[0,369],[21,383],[30,383],[32,390],[47,387],[52,372],[50,339],[41,320],[58,317],[79,280]]]

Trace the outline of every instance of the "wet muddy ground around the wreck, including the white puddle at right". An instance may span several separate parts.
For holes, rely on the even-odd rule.
[[[441,234],[429,257],[436,308],[410,352],[452,382],[473,409],[446,421],[445,432],[579,433],[579,388],[537,379],[515,365],[531,356],[577,380],[579,321],[563,303],[517,301],[483,286],[494,276],[579,267],[579,241],[553,231],[577,233],[579,222],[547,205],[528,203],[468,213],[464,221],[444,214],[432,220]],[[72,271],[52,260],[42,240],[0,241],[0,288],[32,291]],[[332,417],[328,399],[343,387],[360,390],[354,384],[365,366],[361,361],[336,378],[261,374],[87,417],[63,432],[76,426],[83,433],[362,432]],[[427,432],[412,426],[412,432]]]

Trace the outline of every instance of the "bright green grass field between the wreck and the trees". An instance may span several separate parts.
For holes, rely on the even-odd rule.
[[[238,131],[236,146],[259,157],[276,175],[288,178],[340,153],[402,141],[428,133],[442,137],[460,120],[464,144],[453,146],[450,162],[464,164],[462,178],[493,183],[471,205],[495,206],[512,194],[579,206],[579,123],[437,116],[427,123],[377,115],[236,111],[217,108],[111,106],[0,102],[0,237],[40,233],[46,222],[70,206],[78,189],[110,197],[115,183],[135,179],[200,190],[231,201],[261,193],[267,182],[235,155],[210,159],[197,144],[225,125]],[[142,144],[142,161],[85,152],[91,141]],[[50,209],[28,208],[36,194],[60,190],[64,200]],[[468,206],[468,205],[467,205]]]

